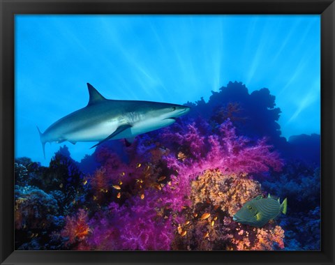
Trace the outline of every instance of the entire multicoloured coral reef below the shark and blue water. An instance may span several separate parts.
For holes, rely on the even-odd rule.
[[[187,105],[172,126],[131,146],[104,142],[81,162],[66,146],[49,167],[17,158],[15,248],[320,250],[319,164],[299,152],[318,137],[280,137],[268,89],[230,82]],[[232,220],[268,192],[288,197],[287,215],[260,228]]]

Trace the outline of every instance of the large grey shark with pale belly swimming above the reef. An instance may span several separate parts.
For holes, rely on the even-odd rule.
[[[126,138],[133,142],[136,135],[157,130],[174,123],[190,108],[170,103],[139,100],[108,100],[91,84],[86,107],[64,116],[40,133],[45,157],[45,143],[98,142]],[[91,148],[98,146],[95,144]]]

